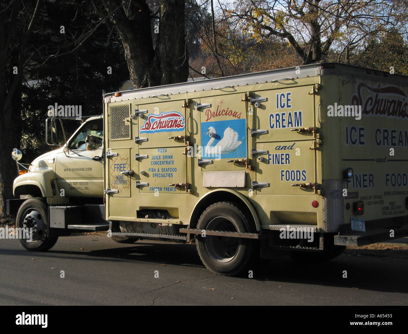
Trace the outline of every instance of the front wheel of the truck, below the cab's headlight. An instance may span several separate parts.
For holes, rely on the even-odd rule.
[[[33,228],[32,241],[30,238],[20,238],[20,243],[25,249],[45,252],[51,249],[58,237],[47,237],[48,234],[48,206],[39,198],[30,198],[24,201],[17,212],[17,228]],[[27,235],[26,235],[27,236]]]

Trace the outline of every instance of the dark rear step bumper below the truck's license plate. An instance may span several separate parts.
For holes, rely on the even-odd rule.
[[[390,237],[391,231],[394,231],[394,237]],[[339,234],[334,236],[334,244],[340,246],[364,246],[370,243],[395,240],[408,236],[408,224],[400,228],[381,228],[367,232],[353,232],[348,234]]]

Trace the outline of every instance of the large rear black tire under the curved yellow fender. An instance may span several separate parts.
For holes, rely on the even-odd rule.
[[[197,223],[199,230],[227,232],[254,232],[245,215],[230,202],[218,202],[202,213]],[[259,259],[259,243],[251,239],[219,237],[201,234],[196,238],[201,261],[218,275],[235,276],[255,269]]]

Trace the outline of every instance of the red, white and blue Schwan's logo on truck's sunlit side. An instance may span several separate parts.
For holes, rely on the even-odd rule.
[[[144,122],[140,133],[182,131],[184,126],[183,115],[176,111],[161,113],[160,115],[151,114]]]

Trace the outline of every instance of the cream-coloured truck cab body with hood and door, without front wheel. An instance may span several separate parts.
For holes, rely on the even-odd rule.
[[[51,131],[56,132],[56,122]],[[86,147],[86,136],[97,138]],[[51,144],[56,146],[55,139]],[[87,119],[57,150],[34,159],[28,172],[14,180],[14,195],[41,195],[51,203],[67,203],[69,197],[103,197],[103,119]],[[34,187],[37,187],[35,189]],[[62,197],[66,197],[63,199]]]

